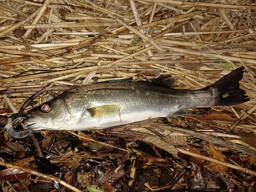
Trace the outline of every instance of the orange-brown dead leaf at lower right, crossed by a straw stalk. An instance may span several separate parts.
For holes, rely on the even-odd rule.
[[[216,148],[214,146],[210,146],[210,153],[209,153],[209,157],[213,158],[213,159],[217,159],[220,161],[224,161],[225,162],[225,155],[223,155],[221,153],[221,151],[216,150]],[[219,170],[220,172],[227,172],[227,167],[224,165],[219,165],[217,163],[214,162],[210,162],[209,163],[210,166],[216,168],[217,170]]]

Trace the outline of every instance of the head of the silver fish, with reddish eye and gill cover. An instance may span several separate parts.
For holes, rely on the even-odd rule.
[[[33,130],[58,130],[71,126],[75,118],[69,113],[65,100],[54,98],[28,111],[32,118],[23,121]]]

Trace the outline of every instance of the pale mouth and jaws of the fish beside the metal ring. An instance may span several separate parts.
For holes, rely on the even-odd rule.
[[[32,127],[33,130],[42,129],[42,127],[45,127],[45,125],[50,121],[50,118],[46,116],[35,115],[32,113],[30,115],[32,118],[25,119],[23,123],[26,126]]]

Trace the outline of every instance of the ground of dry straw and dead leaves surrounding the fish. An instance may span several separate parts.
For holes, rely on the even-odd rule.
[[[24,139],[3,130],[2,191],[256,190],[254,2],[4,0],[0,8],[1,125],[49,94],[127,77],[172,75],[175,89],[200,89],[244,66],[240,86],[251,98],[105,130]]]

